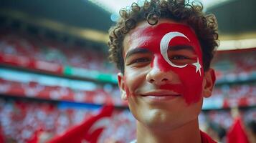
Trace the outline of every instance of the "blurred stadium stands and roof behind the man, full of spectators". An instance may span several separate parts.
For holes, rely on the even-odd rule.
[[[136,121],[120,99],[106,44],[118,9],[131,4],[125,2],[0,1],[2,142],[47,142],[108,103],[115,109],[98,142],[135,138]],[[226,142],[232,109],[239,109],[245,127],[256,120],[256,1],[202,3],[217,16],[220,46],[213,63],[217,84],[204,101],[200,127]]]

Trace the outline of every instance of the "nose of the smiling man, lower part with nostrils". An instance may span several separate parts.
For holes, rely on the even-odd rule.
[[[171,71],[161,71],[157,65],[154,65],[146,75],[146,80],[156,85],[170,84],[173,80],[173,74]]]

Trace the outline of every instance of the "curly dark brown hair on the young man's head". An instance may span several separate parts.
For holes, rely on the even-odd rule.
[[[120,9],[120,19],[109,30],[109,59],[124,72],[123,39],[125,35],[141,21],[155,25],[159,19],[172,19],[191,26],[199,39],[204,71],[209,69],[214,49],[218,46],[217,19],[213,14],[204,14],[201,3],[190,4],[184,0],[144,1],[143,6],[133,3],[130,9]]]

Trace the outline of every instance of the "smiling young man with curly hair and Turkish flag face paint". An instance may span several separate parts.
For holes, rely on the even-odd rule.
[[[120,16],[110,29],[110,60],[120,69],[121,97],[137,119],[136,142],[214,142],[198,122],[215,82],[214,16],[178,0],[133,3]]]

